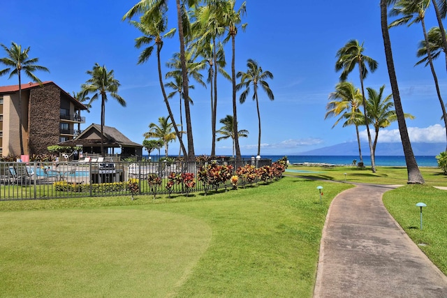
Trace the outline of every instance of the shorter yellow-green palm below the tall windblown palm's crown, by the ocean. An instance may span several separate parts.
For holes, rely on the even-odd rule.
[[[324,119],[328,117],[340,116],[334,128],[339,121],[345,119],[343,127],[354,125],[356,126],[356,135],[358,143],[358,154],[360,156],[360,163],[363,163],[362,148],[360,147],[360,134],[358,133],[358,126],[364,124],[360,112],[360,105],[362,105],[362,94],[359,89],[356,89],[350,82],[339,82],[335,87],[335,91],[329,94],[331,101],[326,105],[326,112]]]

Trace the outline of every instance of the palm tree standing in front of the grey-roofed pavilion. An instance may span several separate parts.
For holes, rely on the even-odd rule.
[[[91,77],[85,84],[82,84],[82,92],[85,92],[86,96],[87,94],[94,94],[94,96],[91,96],[91,101],[97,100],[101,96],[101,155],[104,157],[103,129],[105,122],[105,103],[108,99],[107,94],[115,98],[122,107],[126,106],[126,100],[118,94],[118,88],[121,84],[115,79],[113,70],[108,71],[104,65],[100,66],[96,63],[91,70],[87,70],[87,75]]]

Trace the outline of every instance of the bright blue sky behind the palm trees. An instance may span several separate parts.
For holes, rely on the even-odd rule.
[[[386,85],[391,93],[386,69],[383,40],[380,28],[379,0],[358,1],[281,1],[281,5],[268,0],[248,0],[248,23],[245,32],[236,38],[236,71],[247,70],[247,59],[255,59],[264,70],[270,70],[274,79],[269,82],[274,93],[271,101],[261,91],[261,156],[292,155],[311,149],[356,140],[353,127],[332,128],[335,119],[324,120],[328,94],[339,82],[335,73],[335,55],[350,39],[364,43],[364,54],[376,59],[379,68],[370,73],[365,87],[379,89]],[[38,57],[39,64],[50,73],[37,72],[43,80],[51,80],[68,93],[79,91],[96,62],[115,71],[122,86],[119,94],[126,100],[121,107],[110,98],[105,107],[105,125],[114,126],[134,142],[141,143],[142,134],[150,123],[167,116],[156,70],[156,56],[144,65],[137,65],[141,50],[135,49],[134,39],[140,36],[122,16],[137,1],[6,1],[0,18],[0,43],[31,47],[30,57]],[[237,1],[237,7],[242,1]],[[176,27],[175,1],[170,0],[169,27]],[[427,13],[427,28],[435,26],[434,12]],[[390,30],[395,58],[397,80],[404,112],[416,119],[408,120],[412,142],[446,142],[441,121],[441,107],[434,89],[430,68],[414,66],[416,50],[423,39],[420,24]],[[173,53],[178,52],[178,36],[165,40],[161,60],[164,65]],[[230,46],[226,46],[227,71],[230,72]],[[4,56],[2,52],[1,57]],[[441,94],[446,94],[446,71],[441,57],[435,67]],[[166,73],[166,69],[163,69]],[[24,77],[22,82],[27,82]],[[360,87],[358,70],[349,81]],[[167,82],[167,81],[165,81]],[[17,77],[8,80],[0,77],[0,85],[17,84]],[[198,86],[191,91],[196,154],[210,154],[211,120],[209,90]],[[218,120],[232,114],[231,84],[219,77]],[[237,94],[239,96],[239,94]],[[87,117],[89,124],[100,123],[100,101],[94,103]],[[178,99],[171,102],[178,119]],[[239,128],[249,131],[249,137],[240,139],[243,155],[254,155],[258,142],[256,105],[251,100],[237,105]],[[177,120],[178,121],[178,120]],[[220,125],[217,124],[217,128]],[[362,131],[365,140],[365,131]],[[397,124],[379,133],[379,142],[399,142]],[[169,153],[178,153],[178,142],[170,144]],[[217,142],[218,155],[231,154],[231,142]]]

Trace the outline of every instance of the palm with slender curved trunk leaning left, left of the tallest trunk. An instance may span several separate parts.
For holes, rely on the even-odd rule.
[[[138,30],[140,30],[144,35],[135,39],[135,47],[140,48],[143,45],[148,45],[138,57],[138,64],[144,64],[149,57],[151,57],[154,49],[156,50],[156,61],[157,61],[157,69],[159,73],[159,83],[161,88],[161,94],[163,94],[163,100],[165,102],[166,108],[168,110],[168,114],[170,120],[173,122],[173,126],[175,129],[175,133],[177,133],[177,137],[179,137],[180,149],[183,151],[184,156],[186,156],[186,148],[184,147],[184,143],[181,137],[181,133],[179,132],[177,125],[175,124],[174,114],[170,108],[170,104],[168,101],[168,96],[166,96],[166,91],[163,84],[163,75],[161,73],[161,59],[160,53],[163,48],[163,38],[170,38],[174,35],[175,29],[170,29],[165,33],[168,26],[168,20],[163,13],[159,14],[148,14],[142,15],[140,17],[140,22],[130,21],[133,26],[135,26]]]

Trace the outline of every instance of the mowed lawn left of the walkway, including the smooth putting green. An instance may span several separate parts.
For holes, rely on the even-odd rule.
[[[0,202],[0,293],[312,297],[328,206],[349,187],[285,177],[187,198]]]

